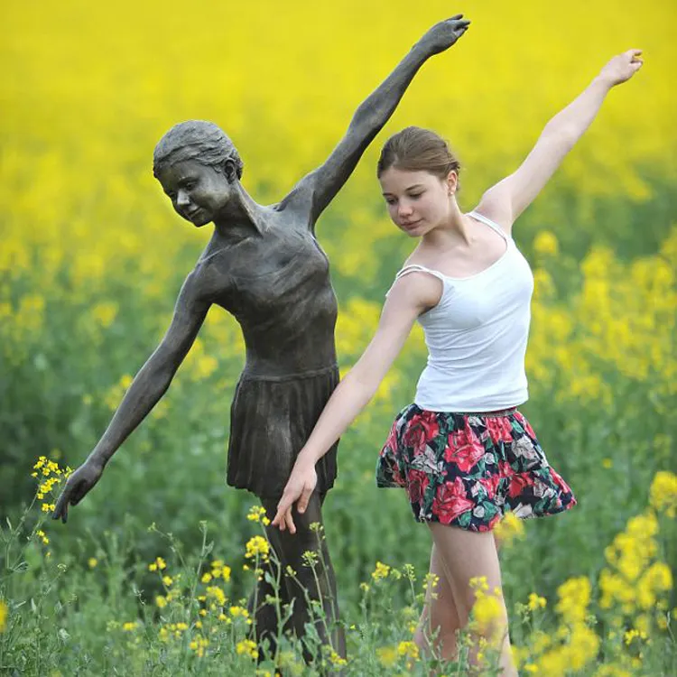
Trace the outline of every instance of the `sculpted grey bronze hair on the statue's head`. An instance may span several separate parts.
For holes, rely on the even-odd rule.
[[[235,145],[213,122],[188,120],[174,125],[155,146],[153,174],[157,177],[164,167],[187,160],[195,160],[219,171],[230,160],[235,165],[237,178],[242,178],[244,164]]]

